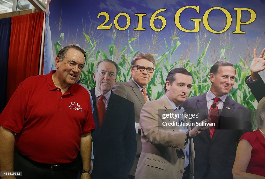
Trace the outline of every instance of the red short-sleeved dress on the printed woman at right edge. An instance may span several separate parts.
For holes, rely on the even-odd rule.
[[[239,140],[241,139],[247,140],[252,146],[247,172],[265,177],[265,138],[263,134],[255,130],[243,134]]]

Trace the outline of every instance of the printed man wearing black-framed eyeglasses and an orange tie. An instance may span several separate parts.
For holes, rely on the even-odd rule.
[[[135,127],[137,139],[137,152],[134,165],[130,171],[129,178],[134,178],[137,163],[142,150],[141,127],[139,126],[139,117],[143,105],[152,98],[148,95],[146,85],[151,81],[156,67],[156,60],[153,55],[148,53],[139,53],[131,60],[132,79],[129,82],[117,82],[112,91],[134,103]]]

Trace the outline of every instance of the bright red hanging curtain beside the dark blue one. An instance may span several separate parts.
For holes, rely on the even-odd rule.
[[[19,83],[38,75],[43,12],[11,17],[6,102]]]

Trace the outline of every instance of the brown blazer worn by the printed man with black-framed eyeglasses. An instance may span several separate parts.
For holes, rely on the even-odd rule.
[[[142,107],[145,104],[145,100],[143,97],[142,92],[140,91],[139,87],[136,85],[136,83],[131,79],[129,82],[117,82],[116,85],[112,88],[112,91],[123,98],[126,98],[127,100],[134,103],[134,113],[135,113],[135,122],[139,123],[140,113],[142,110]],[[152,98],[148,95],[149,100],[151,101]],[[136,157],[134,160],[133,167],[130,171],[130,175],[135,175],[137,163],[141,154],[142,149],[142,142],[141,142],[141,136],[139,134],[136,135],[136,141],[137,141],[137,152]]]

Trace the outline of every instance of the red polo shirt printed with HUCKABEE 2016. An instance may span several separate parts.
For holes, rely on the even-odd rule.
[[[0,126],[16,132],[15,147],[36,162],[72,162],[81,135],[95,128],[89,93],[75,83],[62,95],[52,73],[22,83],[0,115]]]

